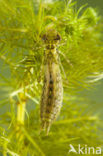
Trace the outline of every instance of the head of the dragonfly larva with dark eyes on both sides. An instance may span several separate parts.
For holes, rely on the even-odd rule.
[[[61,37],[55,29],[49,28],[42,36],[42,39],[46,45],[56,46],[59,43]]]

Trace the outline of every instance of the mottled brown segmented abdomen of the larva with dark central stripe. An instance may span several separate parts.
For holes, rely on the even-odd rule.
[[[44,65],[45,75],[40,106],[41,127],[46,129],[47,133],[60,112],[63,99],[59,65],[52,59],[52,53],[50,54],[51,56],[47,56]]]

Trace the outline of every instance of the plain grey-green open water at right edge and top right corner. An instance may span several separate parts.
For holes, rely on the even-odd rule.
[[[103,0],[77,0],[78,7],[83,4],[96,8],[98,14],[103,16]],[[94,109],[95,113],[100,114],[101,118],[103,118],[103,80],[99,81],[94,88],[82,92],[82,94],[85,96],[86,103],[89,103],[90,108]]]

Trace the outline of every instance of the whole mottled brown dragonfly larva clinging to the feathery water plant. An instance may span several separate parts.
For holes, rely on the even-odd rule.
[[[52,122],[57,118],[63,99],[62,78],[59,67],[57,45],[60,35],[54,29],[48,29],[43,35],[44,84],[40,102],[41,129],[49,132]]]

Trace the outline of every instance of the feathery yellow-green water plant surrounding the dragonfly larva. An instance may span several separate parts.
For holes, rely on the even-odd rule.
[[[0,153],[3,156],[64,156],[69,144],[102,145],[101,121],[83,89],[102,78],[102,23],[95,9],[76,1],[0,1]],[[64,96],[48,136],[39,134],[43,86],[42,35],[54,28]]]

